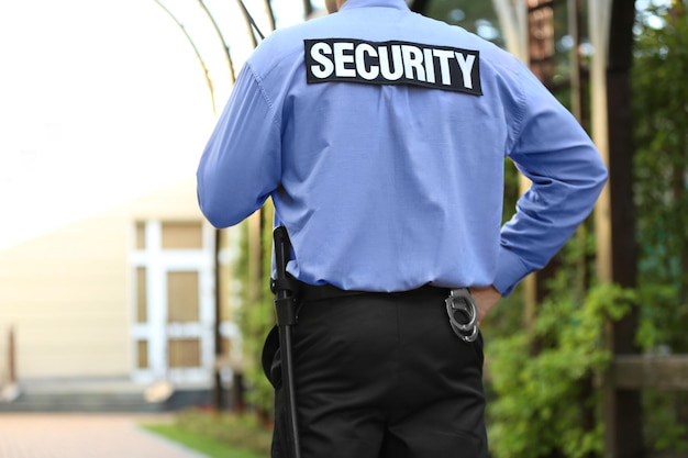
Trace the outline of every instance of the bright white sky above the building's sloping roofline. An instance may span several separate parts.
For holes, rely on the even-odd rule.
[[[209,68],[220,111],[223,47],[197,1],[160,1]],[[245,0],[266,33],[263,1]],[[274,0],[278,26],[301,0]],[[253,49],[237,2],[207,0],[235,60]],[[192,179],[214,126],[202,66],[154,0],[0,2],[0,249]]]

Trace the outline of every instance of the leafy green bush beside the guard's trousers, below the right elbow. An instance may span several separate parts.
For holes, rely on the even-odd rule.
[[[607,319],[619,320],[635,301],[632,291],[598,286],[582,304],[548,300],[533,335],[513,333],[486,349],[491,389],[491,450],[497,458],[581,458],[602,451],[593,381],[610,361],[602,346]],[[535,343],[539,351],[534,351]]]

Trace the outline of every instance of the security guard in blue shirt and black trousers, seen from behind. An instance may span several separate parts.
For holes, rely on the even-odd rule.
[[[291,237],[304,458],[487,457],[476,325],[570,237],[607,169],[497,46],[404,0],[329,3],[247,60],[200,206],[225,227],[270,197]],[[532,187],[501,226],[504,157]]]

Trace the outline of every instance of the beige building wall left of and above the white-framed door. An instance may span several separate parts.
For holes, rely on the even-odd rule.
[[[195,182],[0,250],[0,386],[10,326],[20,380],[130,373],[129,255],[149,219],[200,220]]]

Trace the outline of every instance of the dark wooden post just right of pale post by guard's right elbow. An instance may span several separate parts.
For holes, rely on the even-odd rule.
[[[611,267],[612,280],[625,288],[636,286],[637,248],[635,243],[635,210],[633,204],[633,135],[631,120],[631,65],[633,62],[632,1],[614,0],[611,11],[609,62],[607,67],[607,103],[609,116],[609,191],[611,201]],[[635,332],[637,309],[614,323],[612,349],[614,355],[636,354]],[[617,389],[615,428],[611,444],[613,456],[634,458],[644,455],[642,436],[641,393]]]

